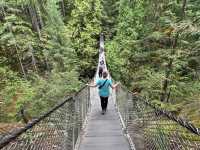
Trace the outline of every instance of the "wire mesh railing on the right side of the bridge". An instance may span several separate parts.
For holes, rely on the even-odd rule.
[[[200,150],[200,129],[172,113],[154,107],[123,87],[116,103],[137,150]]]

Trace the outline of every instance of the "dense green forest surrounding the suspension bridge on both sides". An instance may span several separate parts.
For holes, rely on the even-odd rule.
[[[95,74],[199,126],[200,1],[1,0],[0,123],[27,123]]]

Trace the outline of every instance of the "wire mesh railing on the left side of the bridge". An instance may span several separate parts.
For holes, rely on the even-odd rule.
[[[90,89],[82,88],[49,112],[1,137],[2,150],[72,150],[90,108]]]

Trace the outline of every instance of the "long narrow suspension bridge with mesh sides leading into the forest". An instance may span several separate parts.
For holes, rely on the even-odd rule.
[[[100,66],[107,70],[102,35],[94,80]],[[102,115],[97,89],[84,86],[24,127],[0,133],[0,149],[200,150],[200,129],[122,85]]]

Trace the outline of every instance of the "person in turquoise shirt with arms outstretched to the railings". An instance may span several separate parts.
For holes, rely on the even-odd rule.
[[[112,89],[115,89],[118,86],[119,83],[113,85],[112,81],[108,79],[108,73],[107,71],[103,72],[103,78],[98,79],[96,81],[96,84],[87,84],[89,87],[97,87],[99,89],[99,96],[101,99],[101,108],[102,108],[102,114],[104,115],[107,110],[108,105],[108,97],[110,95],[110,87]]]

